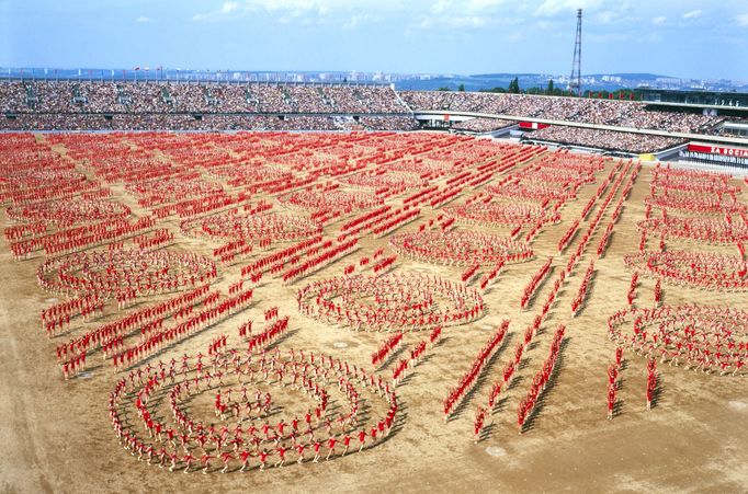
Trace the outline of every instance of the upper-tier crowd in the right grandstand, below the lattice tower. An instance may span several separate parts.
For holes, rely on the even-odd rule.
[[[646,103],[636,101],[449,91],[404,91],[400,96],[416,111],[474,112],[672,133],[713,134],[724,122],[716,116],[649,111]]]

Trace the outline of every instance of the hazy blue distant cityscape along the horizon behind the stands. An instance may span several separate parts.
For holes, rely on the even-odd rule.
[[[553,80],[558,88],[566,88],[567,74],[551,73],[386,73],[364,71],[247,71],[200,70],[191,68],[135,67],[129,69],[50,69],[50,68],[0,68],[2,78],[80,79],[80,80],[181,80],[229,82],[358,82],[394,83],[398,90],[481,91],[506,88],[517,78],[521,89],[545,88]],[[592,91],[619,89],[668,89],[694,91],[748,92],[748,80],[689,79],[653,73],[593,73],[582,77],[582,85]]]

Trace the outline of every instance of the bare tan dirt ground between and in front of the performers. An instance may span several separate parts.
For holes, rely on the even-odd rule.
[[[582,259],[562,289],[536,347],[525,354],[517,383],[502,394],[489,418],[491,425],[484,440],[473,441],[475,407],[485,402],[490,382],[499,376],[514,342],[534,315],[533,310],[519,309],[521,290],[537,266],[547,256],[557,254],[557,240],[570,220],[578,217],[597,185],[583,187],[580,196],[562,210],[560,225],[544,229],[533,243],[532,262],[511,265],[500,274],[485,294],[488,311],[481,319],[445,330],[443,344],[431,351],[427,361],[397,389],[404,420],[386,441],[329,462],[291,464],[264,472],[185,475],[133,458],[120,446],[107,416],[107,395],[115,382],[111,366],[95,366],[90,378],[61,380],[54,363],[55,343],[39,329],[39,310],[54,298],[36,284],[41,257],[15,262],[3,245],[0,249],[0,444],[3,446],[0,491],[746,492],[748,389],[745,378],[661,365],[662,392],[657,405],[647,411],[645,359],[626,353],[621,411],[613,421],[605,418],[607,367],[614,352],[607,336],[605,321],[625,306],[631,273],[624,267],[622,256],[637,250],[639,234],[635,223],[644,219],[649,180],[650,171],[645,166],[609,249],[597,264],[593,288],[578,317],[571,317],[569,303],[588,257]],[[137,212],[135,202],[121,188],[114,187],[114,197]],[[8,225],[3,215],[0,228]],[[179,235],[178,221],[163,225],[178,233],[178,249],[209,255],[213,245]],[[404,229],[409,228],[413,227]],[[597,246],[599,237],[600,232],[590,250]],[[386,245],[386,239],[366,240],[351,260]],[[672,241],[668,245],[701,248]],[[389,252],[387,248],[386,252]],[[554,265],[563,266],[566,259],[566,255],[558,257]],[[291,286],[283,286],[277,279],[265,282],[256,291],[254,303],[246,313],[258,320],[262,310],[277,305],[281,313],[291,318],[291,328],[298,330],[284,345],[367,365],[371,353],[383,340],[381,334],[329,326],[296,310],[295,294],[299,287],[308,280],[340,275],[344,264],[335,263]],[[452,280],[458,280],[463,271],[405,257],[398,259],[396,268],[439,274]],[[239,269],[240,266],[222,268],[215,285],[225,290],[238,279]],[[544,299],[549,285],[543,286],[537,299]],[[651,279],[642,278],[637,299],[642,305],[651,301],[653,287]],[[669,285],[664,288],[667,305],[696,302],[748,309],[745,292],[707,292]],[[447,389],[468,369],[502,319],[511,320],[508,344],[489,367],[483,386],[469,397],[457,416],[445,424],[441,410]],[[519,399],[542,365],[553,330],[559,323],[567,326],[567,343],[557,378],[545,393],[530,429],[519,435],[515,424]],[[167,360],[184,352],[204,351],[217,334],[236,335],[238,324],[238,319],[231,318],[159,358]],[[406,342],[416,343],[422,337],[422,334],[406,335]]]

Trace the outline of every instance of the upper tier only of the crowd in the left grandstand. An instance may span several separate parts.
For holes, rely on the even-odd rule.
[[[389,85],[2,81],[4,113],[410,114]]]

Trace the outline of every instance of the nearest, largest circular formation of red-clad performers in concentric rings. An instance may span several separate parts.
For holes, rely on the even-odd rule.
[[[162,469],[227,473],[316,463],[371,448],[395,426],[389,382],[330,356],[275,348],[180,360],[131,371],[109,399],[120,444]],[[212,410],[193,416],[188,405]]]

